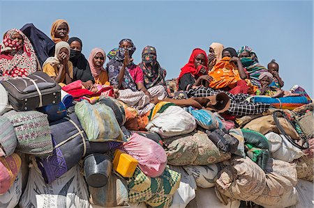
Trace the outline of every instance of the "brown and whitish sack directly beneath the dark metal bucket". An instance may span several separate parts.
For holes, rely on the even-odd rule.
[[[90,202],[102,207],[117,207],[128,205],[128,184],[122,177],[110,173],[105,186],[94,188],[89,186]]]

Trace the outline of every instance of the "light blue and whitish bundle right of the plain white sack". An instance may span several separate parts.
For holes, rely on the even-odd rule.
[[[223,122],[214,113],[209,110],[190,110],[189,112],[194,116],[197,125],[200,125],[204,129],[214,130],[214,129],[225,129]]]

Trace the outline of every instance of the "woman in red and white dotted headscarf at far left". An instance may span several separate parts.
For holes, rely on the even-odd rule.
[[[36,70],[36,54],[29,38],[18,29],[7,31],[1,42],[0,77],[26,77]]]

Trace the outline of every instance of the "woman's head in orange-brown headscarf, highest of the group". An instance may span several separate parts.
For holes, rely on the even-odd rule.
[[[57,19],[51,26],[50,35],[54,43],[60,41],[67,42],[68,33],[70,33],[70,27],[64,19]]]

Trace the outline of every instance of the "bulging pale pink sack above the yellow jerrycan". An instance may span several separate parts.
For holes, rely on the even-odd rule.
[[[167,155],[163,147],[139,134],[133,134],[119,148],[134,157],[143,173],[149,177],[160,176],[167,166]]]

